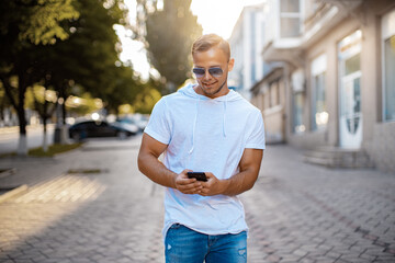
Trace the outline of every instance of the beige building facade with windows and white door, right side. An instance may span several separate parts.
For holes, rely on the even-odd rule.
[[[395,1],[268,0],[266,11],[273,66],[251,102],[268,138],[311,150],[307,161],[395,172]]]

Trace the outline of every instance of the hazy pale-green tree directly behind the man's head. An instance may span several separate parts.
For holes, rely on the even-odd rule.
[[[166,78],[167,92],[191,77],[191,45],[202,34],[202,26],[190,10],[191,1],[163,0],[162,10],[155,8],[156,1],[138,1],[143,14],[137,18],[145,20],[149,61]],[[143,26],[142,22],[137,24]]]

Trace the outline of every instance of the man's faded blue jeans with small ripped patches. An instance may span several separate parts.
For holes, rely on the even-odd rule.
[[[166,263],[246,263],[247,233],[210,236],[180,224],[165,239]]]

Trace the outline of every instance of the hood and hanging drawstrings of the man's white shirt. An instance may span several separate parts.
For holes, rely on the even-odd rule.
[[[193,152],[194,149],[194,145],[195,145],[195,129],[196,129],[196,122],[198,122],[198,116],[199,116],[199,106],[200,106],[200,102],[201,101],[217,101],[217,102],[222,102],[223,103],[223,136],[226,137],[226,107],[228,103],[235,102],[235,101],[239,101],[242,100],[242,96],[235,92],[234,90],[229,90],[229,92],[226,95],[222,95],[215,99],[211,99],[208,96],[205,95],[201,95],[198,94],[193,87],[195,87],[196,84],[188,84],[181,89],[178,90],[178,92],[181,95],[188,96],[190,99],[194,99],[196,102],[196,107],[195,107],[195,115],[194,115],[194,122],[193,122],[193,132],[192,132],[192,148],[190,149],[189,153],[191,155]]]

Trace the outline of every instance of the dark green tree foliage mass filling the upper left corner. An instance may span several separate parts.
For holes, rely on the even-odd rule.
[[[125,24],[125,18],[123,0],[0,1],[0,81],[18,111],[21,135],[26,134],[25,93],[35,83],[64,101],[76,84],[109,101],[133,100],[138,82],[133,69],[115,66],[120,48],[113,26]]]

